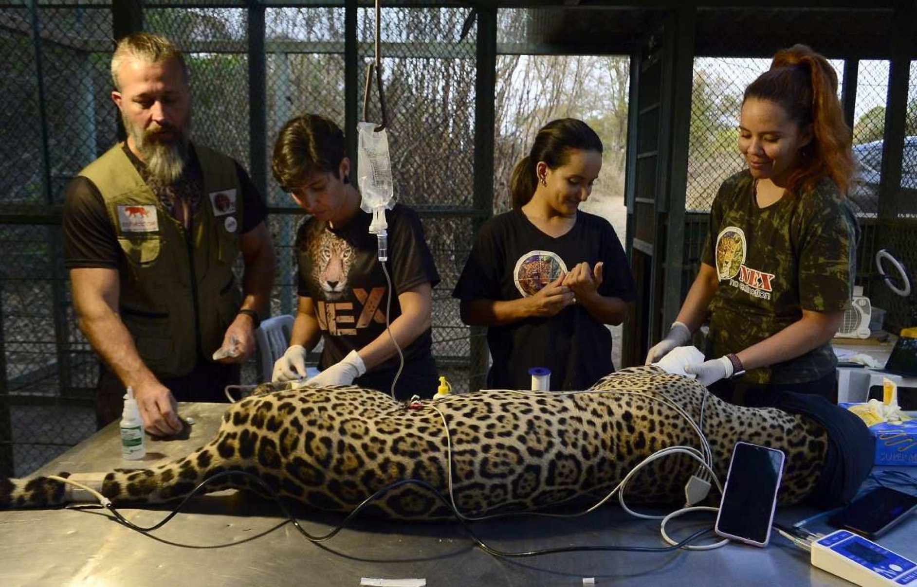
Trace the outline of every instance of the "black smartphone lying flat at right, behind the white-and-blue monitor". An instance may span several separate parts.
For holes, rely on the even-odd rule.
[[[877,487],[828,518],[828,524],[866,538],[877,538],[910,516],[914,509],[917,509],[917,496]]]

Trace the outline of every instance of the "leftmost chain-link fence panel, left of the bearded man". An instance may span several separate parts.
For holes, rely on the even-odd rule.
[[[63,270],[64,186],[115,141],[106,2],[0,9],[0,472],[24,473],[95,428],[97,362]]]

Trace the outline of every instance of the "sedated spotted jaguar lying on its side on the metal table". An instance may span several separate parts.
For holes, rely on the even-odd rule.
[[[265,384],[229,406],[215,439],[190,455],[146,470],[99,473],[95,488],[115,504],[160,503],[190,494],[215,473],[246,471],[304,505],[349,512],[382,488],[418,479],[464,516],[540,510],[596,501],[659,449],[700,449],[678,408],[702,427],[720,479],[737,440],[784,451],[784,504],[813,493],[829,502],[849,499],[868,473],[868,466],[851,469],[850,462],[871,458],[838,446],[841,436],[868,438],[856,418],[825,425],[776,408],[735,406],[652,365],[607,375],[583,391],[481,390],[413,405],[355,386],[283,387]],[[830,414],[843,411],[823,403]],[[838,450],[840,465],[832,454]],[[828,488],[845,462],[846,487]],[[624,497],[683,502],[697,469],[684,454],[657,459],[635,475]],[[72,499],[69,487],[47,477],[0,478],[0,508],[61,505]],[[241,475],[208,487],[259,491]],[[452,516],[450,505],[418,484],[399,485],[368,509],[395,519]]]

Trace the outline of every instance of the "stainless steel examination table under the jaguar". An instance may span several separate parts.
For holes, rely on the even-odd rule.
[[[225,408],[182,405],[182,415],[196,420],[190,438],[149,442],[147,461],[140,464],[120,458],[117,429],[112,425],[39,473],[107,471],[181,456],[214,436]],[[151,526],[171,507],[120,511],[138,525]],[[296,513],[312,534],[324,534],[342,519],[304,508]],[[779,510],[778,518],[790,524],[813,513],[792,507]],[[195,498],[184,513],[151,536],[117,524],[100,508],[2,511],[0,585],[352,587],[362,577],[425,578],[430,586],[476,587],[573,587],[582,585],[584,577],[594,577],[596,585],[641,587],[850,585],[812,568],[807,553],[776,533],[766,549],[729,544],[712,551],[580,552],[499,559],[476,548],[455,523],[405,524],[360,517],[337,537],[314,544],[283,522],[275,505],[233,491]],[[706,525],[706,520],[676,520],[669,532],[683,538]],[[493,547],[513,551],[572,545],[665,546],[658,527],[657,521],[626,516],[615,505],[589,516],[508,517],[474,526]],[[917,558],[917,522],[905,522],[881,543]]]

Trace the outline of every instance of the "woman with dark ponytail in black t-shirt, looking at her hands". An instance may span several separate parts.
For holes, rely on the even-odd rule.
[[[580,212],[602,168],[602,141],[573,118],[545,125],[511,181],[513,210],[481,226],[452,295],[486,326],[488,387],[585,389],[614,371],[605,324],[624,320],[634,278],[611,223]]]

